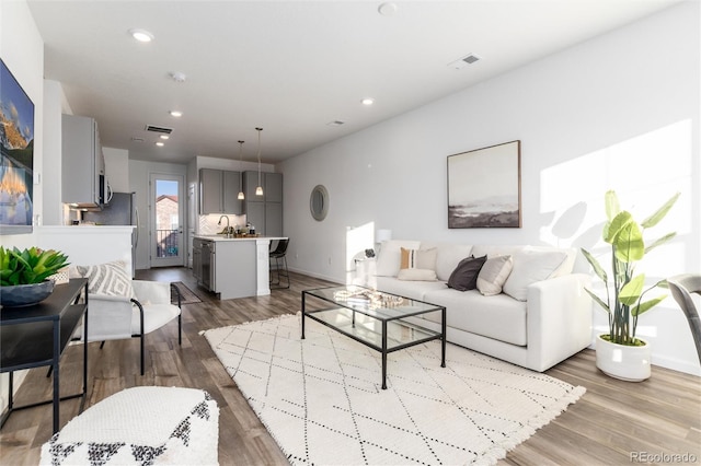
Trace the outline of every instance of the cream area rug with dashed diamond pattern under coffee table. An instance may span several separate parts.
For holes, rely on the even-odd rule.
[[[205,336],[292,465],[491,465],[585,392],[430,341],[380,354],[286,315]]]

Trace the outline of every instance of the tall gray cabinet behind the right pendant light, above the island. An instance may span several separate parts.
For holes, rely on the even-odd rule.
[[[261,173],[263,196],[255,195],[257,172],[243,172],[243,210],[255,232],[265,236],[283,235],[283,174]]]

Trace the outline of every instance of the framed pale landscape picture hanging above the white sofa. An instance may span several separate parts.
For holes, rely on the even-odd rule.
[[[521,141],[448,156],[448,228],[521,226]]]

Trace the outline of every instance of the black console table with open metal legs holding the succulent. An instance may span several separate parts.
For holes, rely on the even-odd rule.
[[[81,299],[82,298],[82,299]],[[84,318],[83,318],[84,317]],[[0,310],[0,372],[10,373],[8,408],[0,420],[0,428],[12,411],[54,404],[54,433],[58,432],[60,400],[83,398],[88,393],[88,345],[83,345],[83,389],[61,397],[59,394],[59,360],[83,318],[88,331],[88,280],[72,279],[57,284],[54,292],[38,304],[26,307]],[[13,406],[12,375],[14,371],[49,365],[54,373],[53,399],[31,405]],[[83,406],[80,409],[82,411]]]

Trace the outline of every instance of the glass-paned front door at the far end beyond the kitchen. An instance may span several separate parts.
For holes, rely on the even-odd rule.
[[[183,177],[152,173],[150,176],[151,267],[185,264],[183,249]]]

